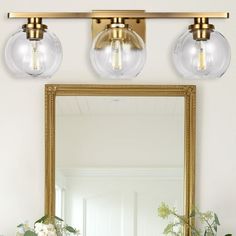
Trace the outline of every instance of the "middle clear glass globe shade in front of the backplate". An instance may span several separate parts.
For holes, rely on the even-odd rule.
[[[112,37],[112,28],[94,39],[90,59],[95,71],[103,78],[129,79],[137,76],[146,61],[142,38],[129,28],[122,29],[123,39]]]

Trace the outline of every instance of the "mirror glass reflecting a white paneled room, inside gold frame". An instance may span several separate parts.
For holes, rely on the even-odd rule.
[[[184,97],[56,97],[56,215],[83,236],[157,236],[184,214]]]

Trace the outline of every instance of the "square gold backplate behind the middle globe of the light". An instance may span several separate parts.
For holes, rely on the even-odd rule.
[[[93,11],[93,13],[112,13],[111,15],[116,15],[117,13],[145,13],[144,10],[127,10],[127,11]],[[107,25],[111,24],[111,19],[92,19],[92,38],[94,39],[101,31],[103,31]],[[132,30],[134,30],[145,42],[146,35],[146,23],[145,19],[125,19],[125,24],[128,24]]]

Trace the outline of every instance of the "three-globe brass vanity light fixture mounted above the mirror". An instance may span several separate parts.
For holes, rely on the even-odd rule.
[[[217,78],[230,64],[228,41],[209,23],[210,18],[229,18],[227,12],[37,12],[9,13],[8,17],[28,19],[5,49],[6,64],[16,76],[51,77],[60,67],[62,46],[43,24],[46,18],[92,19],[91,63],[104,78],[132,78],[142,71],[146,60],[145,19],[194,19],[173,49],[174,65],[182,76]]]

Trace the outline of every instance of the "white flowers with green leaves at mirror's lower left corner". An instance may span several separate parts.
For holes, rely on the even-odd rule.
[[[43,216],[31,228],[28,224],[17,226],[16,236],[69,236],[79,235],[79,230],[67,225],[59,217]]]

